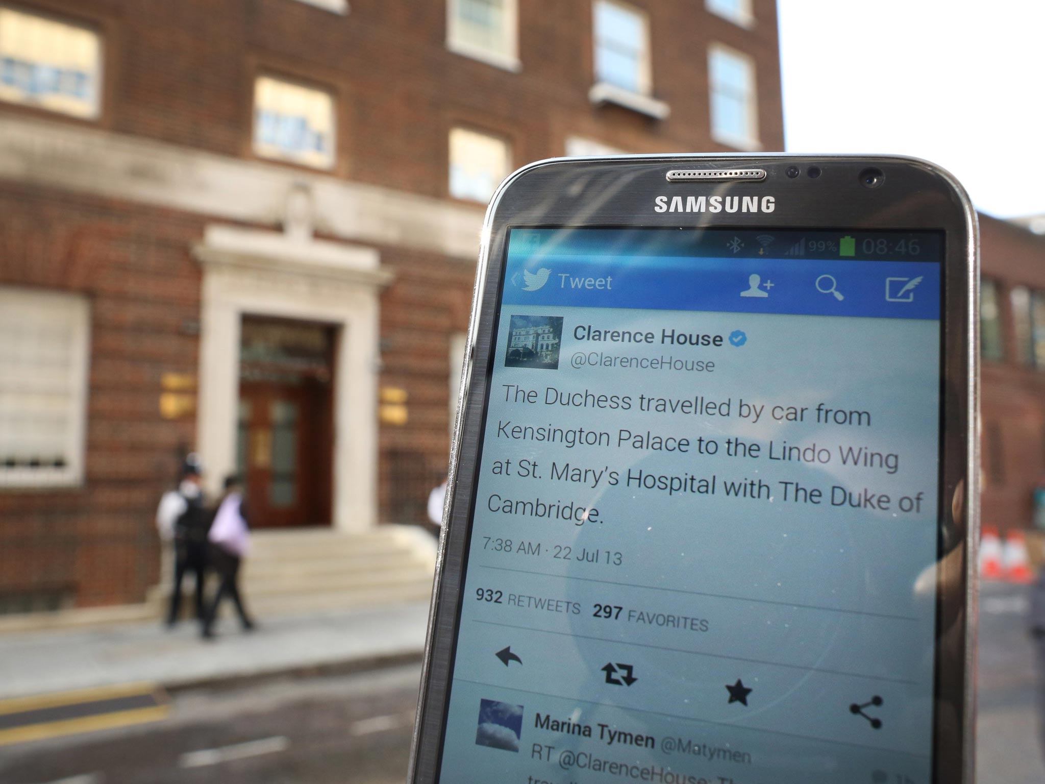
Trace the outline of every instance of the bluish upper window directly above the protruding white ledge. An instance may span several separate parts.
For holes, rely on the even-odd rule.
[[[595,77],[642,95],[652,89],[646,16],[610,0],[595,4]]]

